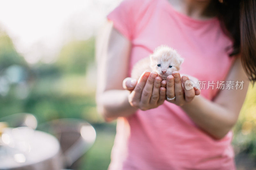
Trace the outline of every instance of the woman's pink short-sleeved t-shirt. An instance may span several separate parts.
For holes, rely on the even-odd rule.
[[[132,43],[132,66],[166,44],[185,59],[180,73],[200,81],[224,81],[234,61],[232,41],[217,18],[196,20],[175,11],[168,0],[124,0],[108,15]],[[213,100],[218,89],[201,90]],[[118,118],[109,169],[235,169],[232,132],[214,140],[179,107],[168,101],[147,111]]]

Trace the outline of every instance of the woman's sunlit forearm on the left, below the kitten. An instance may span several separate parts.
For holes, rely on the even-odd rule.
[[[132,107],[128,101],[127,90],[108,90],[98,95],[97,106],[99,112],[106,121],[111,121],[117,117],[126,117],[135,113],[138,109]]]

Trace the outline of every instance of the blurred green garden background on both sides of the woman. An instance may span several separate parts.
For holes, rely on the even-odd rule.
[[[104,123],[96,111],[94,37],[72,40],[56,61],[28,64],[7,33],[0,31],[0,117],[34,114],[39,123],[56,118],[80,118],[91,123],[97,138],[80,169],[107,169],[115,137],[115,122]],[[234,128],[236,153],[256,157],[256,87],[250,86]]]

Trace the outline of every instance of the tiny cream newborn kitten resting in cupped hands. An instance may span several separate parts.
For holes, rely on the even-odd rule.
[[[167,76],[172,75],[173,71],[180,70],[180,64],[183,58],[176,52],[175,49],[166,45],[157,47],[153,54],[139,60],[132,68],[132,78],[139,79],[144,71],[157,72],[163,80]]]

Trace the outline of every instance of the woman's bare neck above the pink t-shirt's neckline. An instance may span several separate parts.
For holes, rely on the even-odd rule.
[[[216,3],[212,0],[169,0],[179,12],[195,19],[209,19],[216,16]]]

